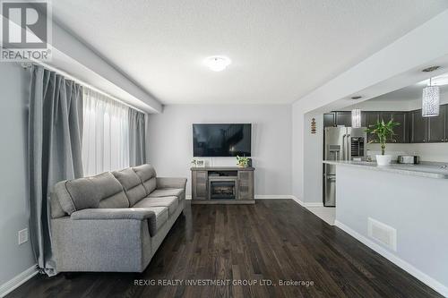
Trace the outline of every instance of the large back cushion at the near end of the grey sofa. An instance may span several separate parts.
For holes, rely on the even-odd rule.
[[[69,215],[89,208],[129,207],[122,185],[108,172],[56,183],[54,192],[61,209]],[[54,206],[53,217],[60,215],[60,212],[56,212],[56,204]]]

